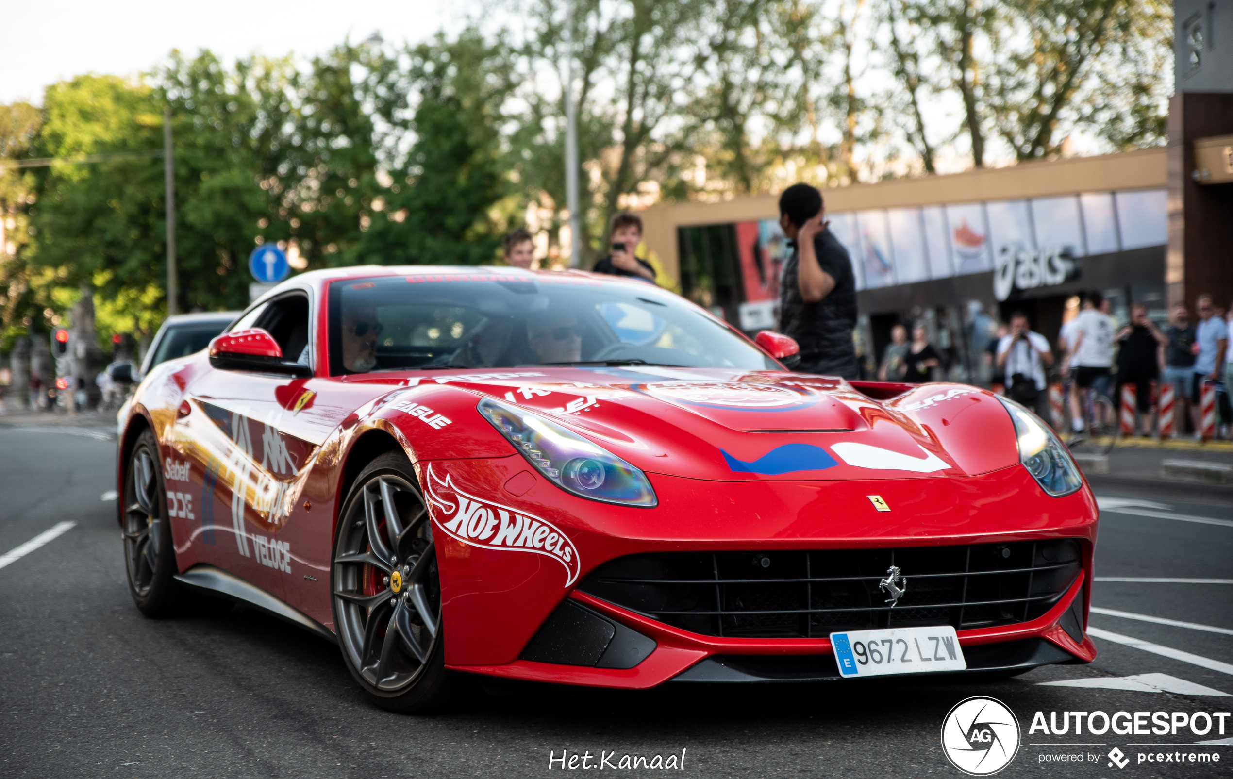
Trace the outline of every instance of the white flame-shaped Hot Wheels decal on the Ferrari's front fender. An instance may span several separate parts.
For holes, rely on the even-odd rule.
[[[467,494],[454,486],[449,473],[428,466],[428,502],[433,519],[453,539],[510,552],[534,552],[565,566],[565,585],[578,578],[578,550],[552,523],[520,509]]]

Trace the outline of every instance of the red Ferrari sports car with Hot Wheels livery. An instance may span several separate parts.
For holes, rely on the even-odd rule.
[[[263,609],[396,711],[462,674],[1092,661],[1097,510],[1048,425],[977,387],[792,372],[797,351],[640,280],[301,274],[121,420],[133,600]]]

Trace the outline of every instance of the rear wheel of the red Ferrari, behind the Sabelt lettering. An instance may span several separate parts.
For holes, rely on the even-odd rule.
[[[133,603],[145,616],[166,616],[180,606],[175,549],[166,518],[166,493],[158,444],[145,430],[125,470],[125,569]]]

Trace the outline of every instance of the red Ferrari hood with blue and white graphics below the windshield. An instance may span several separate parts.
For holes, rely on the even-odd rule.
[[[408,383],[449,385],[533,409],[650,473],[924,478],[1018,462],[1005,408],[964,385],[921,385],[875,401],[835,377],[658,366],[510,369]]]

